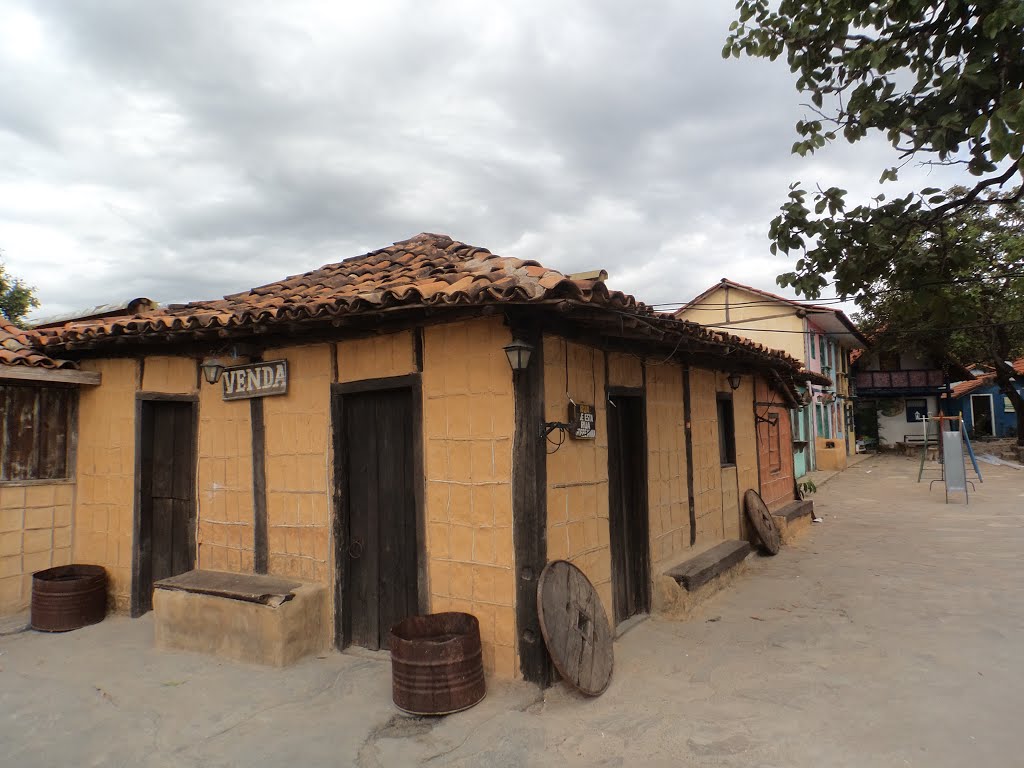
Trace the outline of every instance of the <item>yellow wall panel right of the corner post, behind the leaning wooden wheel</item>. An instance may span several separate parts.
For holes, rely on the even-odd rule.
[[[608,377],[612,382],[637,386],[637,382],[642,383],[639,360],[624,357],[609,355]],[[594,585],[610,620],[614,612],[608,539],[604,353],[558,336],[545,336],[545,421],[564,422],[568,416],[568,397],[593,403],[597,438],[575,440],[566,436],[557,450],[550,443],[547,445],[548,560],[568,560],[579,567]],[[552,433],[552,439],[558,439],[558,432]]]

